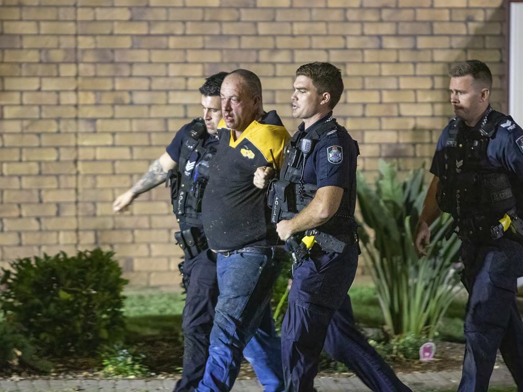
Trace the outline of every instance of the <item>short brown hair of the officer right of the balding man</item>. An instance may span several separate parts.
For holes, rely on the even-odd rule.
[[[296,70],[296,76],[300,75],[312,79],[312,84],[318,90],[318,94],[330,93],[329,107],[334,109],[343,93],[342,70],[331,63],[316,61],[300,66]]]

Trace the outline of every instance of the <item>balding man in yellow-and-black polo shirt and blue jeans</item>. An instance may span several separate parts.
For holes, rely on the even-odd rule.
[[[229,391],[240,370],[242,350],[259,334],[274,339],[268,339],[271,344],[263,351],[249,355],[272,366],[256,373],[273,376],[274,385],[265,385],[266,390],[282,391],[280,342],[269,303],[279,273],[278,237],[270,224],[265,190],[255,187],[253,177],[260,166],[281,167],[289,134],[276,111],[264,112],[261,83],[253,72],[231,72],[220,95],[226,126],[219,125],[220,143],[202,201],[203,228],[209,246],[218,252],[220,294],[209,359],[196,390]]]

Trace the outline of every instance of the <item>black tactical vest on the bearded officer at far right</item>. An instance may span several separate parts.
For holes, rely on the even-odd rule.
[[[452,214],[461,237],[488,238],[490,227],[516,207],[506,170],[492,166],[487,157],[488,143],[507,119],[490,108],[479,131],[466,132],[460,119],[449,123],[436,201],[441,211]]]

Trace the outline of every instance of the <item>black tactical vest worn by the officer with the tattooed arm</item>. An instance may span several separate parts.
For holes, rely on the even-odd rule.
[[[207,129],[202,119],[197,119],[189,132],[190,137],[181,146],[178,170],[169,173],[173,212],[179,223],[202,226],[201,200],[209,180],[209,163],[216,149],[203,147]],[[189,162],[193,152],[196,162]]]

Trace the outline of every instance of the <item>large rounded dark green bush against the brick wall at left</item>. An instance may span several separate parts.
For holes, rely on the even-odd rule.
[[[122,288],[127,283],[101,249],[18,259],[2,269],[2,312],[20,325],[42,355],[92,355],[121,336]]]

